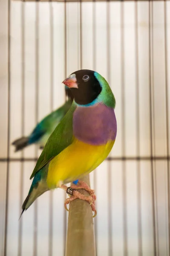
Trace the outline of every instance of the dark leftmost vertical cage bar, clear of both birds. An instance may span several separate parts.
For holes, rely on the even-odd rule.
[[[10,117],[11,117],[11,0],[8,0],[8,135],[7,135],[7,159],[10,156]],[[9,187],[9,160],[7,160],[6,169],[6,209],[5,209],[5,238],[4,238],[4,256],[7,256],[7,235],[8,235],[8,187]]]

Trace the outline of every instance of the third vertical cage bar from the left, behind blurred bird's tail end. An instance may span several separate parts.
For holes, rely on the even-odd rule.
[[[38,106],[39,106],[39,3],[35,3],[36,8],[36,20],[35,20],[35,122],[38,122]],[[35,148],[35,157],[38,156],[38,149]],[[34,241],[33,241],[33,256],[37,256],[37,200],[34,203]]]

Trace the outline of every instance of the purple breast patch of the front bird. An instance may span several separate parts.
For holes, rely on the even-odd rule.
[[[113,108],[102,103],[77,107],[73,116],[74,136],[92,145],[106,144],[115,140],[117,132],[116,116]]]

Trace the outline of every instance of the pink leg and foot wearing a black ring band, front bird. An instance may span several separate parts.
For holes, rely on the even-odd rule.
[[[68,195],[70,195],[70,198],[65,199],[65,203],[64,203],[64,207],[65,209],[68,211],[67,209],[67,204],[69,204],[71,201],[79,198],[85,201],[88,201],[88,203],[91,205],[91,209],[94,212],[94,216],[96,216],[97,212],[96,212],[96,208],[95,208],[95,200],[96,200],[96,196],[94,199],[94,195],[90,195],[90,196],[86,196],[86,195],[82,195],[80,192],[78,192],[76,189],[78,189],[79,187],[76,186],[76,189],[71,187],[67,187],[65,185],[61,185],[60,186],[61,189],[64,189]],[[82,188],[82,187],[81,187]],[[89,188],[90,189],[90,188]]]

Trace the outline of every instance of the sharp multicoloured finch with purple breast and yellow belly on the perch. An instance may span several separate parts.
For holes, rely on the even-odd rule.
[[[96,71],[77,70],[63,82],[74,96],[71,108],[59,122],[37,160],[34,178],[22,213],[44,192],[61,188],[70,198],[88,201],[96,215],[94,190],[81,181],[110,153],[117,133],[115,97],[108,82]],[[65,184],[78,180],[77,185]],[[89,196],[77,191],[84,188]]]

